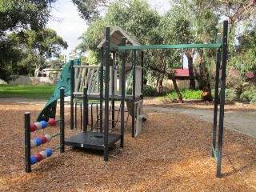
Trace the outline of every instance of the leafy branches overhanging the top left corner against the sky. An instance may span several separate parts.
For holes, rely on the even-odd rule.
[[[50,17],[50,6],[56,0],[2,0],[0,2],[0,38],[6,31],[40,30]]]

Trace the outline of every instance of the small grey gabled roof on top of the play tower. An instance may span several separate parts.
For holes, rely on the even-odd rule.
[[[125,37],[131,43],[132,46],[141,46],[141,44],[136,40],[136,38],[132,37],[125,30],[122,30],[120,26],[114,26],[114,29],[110,32],[110,43],[114,44],[115,46],[121,46],[122,37]],[[105,42],[106,38],[103,38],[102,42],[100,42],[97,47],[105,47]]]

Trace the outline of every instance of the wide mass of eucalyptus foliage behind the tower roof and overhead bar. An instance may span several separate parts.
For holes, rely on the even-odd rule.
[[[90,55],[95,55],[91,51],[97,51],[96,46],[104,37],[106,26],[121,26],[142,45],[214,43],[217,33],[222,31],[220,23],[228,19],[229,66],[242,66],[243,70],[253,70],[255,73],[255,0],[173,0],[165,14],[159,14],[145,0],[73,2],[78,6],[82,18],[89,23],[82,35],[83,46],[80,47],[90,50]],[[102,10],[104,14],[100,13]],[[210,91],[210,81],[214,78],[215,50],[149,50],[146,52],[146,63],[150,65],[146,66],[145,71],[154,76],[170,78],[171,69],[182,66],[183,54],[189,61],[190,76],[194,78],[196,74],[200,88]],[[95,59],[91,61],[98,62]],[[191,87],[194,88],[192,80]]]

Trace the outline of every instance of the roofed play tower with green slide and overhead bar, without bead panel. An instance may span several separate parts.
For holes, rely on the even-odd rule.
[[[225,89],[226,89],[226,55],[227,55],[227,27],[228,22],[223,22],[223,36],[217,36],[217,43],[214,44],[182,44],[182,45],[154,45],[154,46],[141,46],[135,45],[126,46],[126,39],[131,42],[136,42],[130,36],[128,38],[122,37],[119,30],[110,32],[110,27],[106,27],[106,40],[102,41],[98,48],[101,48],[101,66],[80,66],[74,65],[75,61],[70,61],[66,66],[70,76],[63,78],[61,75],[60,81],[66,86],[65,96],[71,97],[70,107],[70,126],[74,129],[74,106],[77,104],[75,99],[80,99],[83,102],[82,111],[82,134],[74,135],[71,138],[66,138],[65,145],[78,146],[83,148],[104,150],[104,160],[108,161],[108,150],[114,143],[120,141],[120,146],[124,146],[124,129],[125,129],[125,102],[127,103],[127,110],[132,116],[132,136],[137,136],[142,131],[142,119],[145,118],[142,109],[143,99],[143,62],[144,52],[142,51],[142,62],[137,65],[137,51],[147,49],[186,49],[186,48],[214,48],[217,49],[216,55],[216,73],[215,73],[215,94],[214,94],[214,127],[213,127],[213,141],[212,141],[212,156],[217,161],[217,174],[218,178],[221,177],[221,164],[222,164],[222,135],[223,135],[223,120],[224,120],[224,103],[225,103]],[[111,36],[114,34],[114,37]],[[121,38],[120,38],[121,36]],[[126,35],[124,35],[126,36]],[[132,65],[126,63],[126,52],[132,51]],[[122,53],[122,66],[116,65],[115,54],[117,51]],[[110,53],[113,54],[113,59],[110,62]],[[222,56],[221,56],[222,54]],[[221,59],[222,58],[222,59]],[[218,120],[218,84],[219,73],[221,75],[221,91],[220,91],[220,104],[219,104],[219,121]],[[131,77],[128,78],[128,70]],[[121,75],[120,75],[121,74]],[[120,82],[117,81],[118,77]],[[128,79],[132,79],[129,83]],[[132,85],[132,94],[128,94],[126,90]],[[118,87],[119,85],[119,87]],[[58,87],[57,86],[57,87]],[[57,92],[56,92],[57,91]],[[55,90],[58,93],[58,90]],[[55,94],[50,98],[50,102],[38,115],[38,118],[50,118],[53,116],[56,109],[58,97]],[[96,131],[92,126],[91,130],[87,129],[88,122],[88,103],[90,99],[98,100],[99,112],[97,112],[97,125]],[[121,120],[115,119],[114,112],[116,111],[115,104],[120,102],[118,113],[120,113]],[[103,107],[104,106],[104,107]],[[55,107],[55,108],[54,108]],[[92,109],[92,108],[91,108]],[[52,111],[51,114],[47,113]],[[119,115],[118,115],[119,117]],[[120,127],[113,126],[114,122],[120,122]],[[75,121],[76,122],[76,121]],[[112,124],[111,124],[112,122]],[[112,125],[110,127],[110,124]],[[112,133],[116,130],[118,133]],[[218,141],[217,141],[218,130]],[[218,148],[216,148],[218,142]],[[216,152],[217,150],[217,152]]]

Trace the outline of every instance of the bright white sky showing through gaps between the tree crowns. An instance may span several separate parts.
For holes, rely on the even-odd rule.
[[[148,2],[152,7],[157,8],[160,13],[164,13],[166,8],[169,8],[169,0],[148,0]],[[86,22],[80,18],[78,10],[71,0],[57,1],[54,4],[52,15],[54,19],[50,20],[47,27],[55,30],[67,42],[69,47],[67,50],[63,50],[62,54],[68,56],[70,51],[74,50],[80,43],[78,38],[86,31]]]

